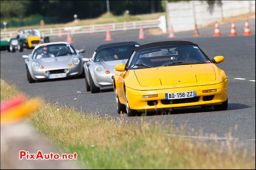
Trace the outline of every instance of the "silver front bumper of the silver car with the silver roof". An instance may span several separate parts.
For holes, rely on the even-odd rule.
[[[48,75],[49,74],[46,74],[46,71],[57,71],[57,73],[60,73],[58,72],[59,70],[65,70],[65,69],[68,69],[68,71],[66,72],[67,74],[67,78],[68,77],[76,77],[76,76],[79,76],[82,74],[83,72],[83,65],[81,64],[78,64],[78,65],[73,65],[71,67],[58,67],[56,69],[33,69],[31,68],[31,71],[30,71],[30,74],[31,74],[31,77],[34,79],[34,80],[46,80],[48,79]],[[63,72],[65,73],[65,72]],[[57,78],[58,79],[58,78]]]

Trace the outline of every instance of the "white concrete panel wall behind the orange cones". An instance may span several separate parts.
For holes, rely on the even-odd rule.
[[[172,24],[175,32],[188,31],[195,28],[195,21],[198,27],[203,27],[215,21],[220,22],[227,17],[255,11],[255,1],[225,0],[221,2],[222,6],[214,5],[212,13],[205,1],[167,3],[168,28],[170,29]]]

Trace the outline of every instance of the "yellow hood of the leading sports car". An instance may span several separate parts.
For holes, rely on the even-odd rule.
[[[142,87],[199,82],[209,84],[209,81],[216,80],[214,68],[208,63],[138,69],[134,73]]]

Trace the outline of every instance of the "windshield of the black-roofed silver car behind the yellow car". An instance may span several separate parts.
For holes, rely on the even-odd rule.
[[[94,62],[128,59],[134,48],[138,46],[125,45],[100,49],[94,57]]]

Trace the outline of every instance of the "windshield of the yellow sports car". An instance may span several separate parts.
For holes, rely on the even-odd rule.
[[[198,47],[187,45],[167,46],[137,51],[130,64],[130,69],[200,63],[211,62]]]

